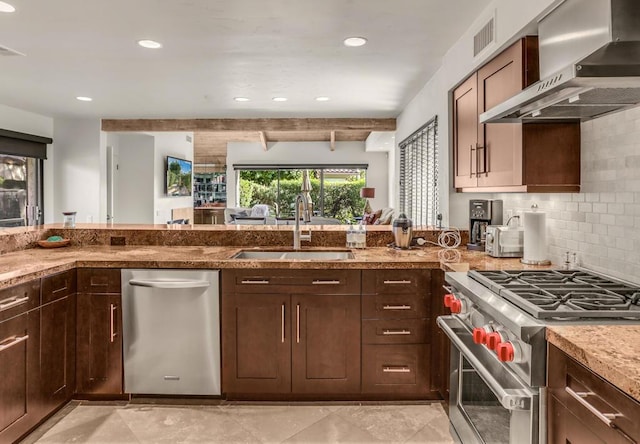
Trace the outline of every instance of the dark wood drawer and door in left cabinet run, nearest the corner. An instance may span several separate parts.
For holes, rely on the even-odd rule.
[[[40,308],[40,394],[42,415],[71,399],[75,392],[76,272],[42,279]]]

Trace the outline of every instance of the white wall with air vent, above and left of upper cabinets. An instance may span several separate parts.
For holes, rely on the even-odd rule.
[[[471,198],[490,197],[455,193],[451,180],[451,124],[449,92],[476,68],[518,37],[535,31],[537,20],[561,0],[494,0],[458,42],[443,57],[442,66],[398,116],[396,141],[407,136],[438,116],[440,150],[440,202],[444,225],[468,229],[468,202]],[[496,19],[496,41],[478,57],[473,57],[473,35],[491,16]],[[399,156],[397,157],[399,158]],[[399,165],[396,166],[396,176]],[[397,189],[397,184],[396,184]],[[397,191],[394,194],[398,194]],[[448,205],[447,205],[448,204]]]

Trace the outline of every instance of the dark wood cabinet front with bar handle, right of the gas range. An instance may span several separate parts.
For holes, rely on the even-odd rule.
[[[640,402],[553,345],[548,386],[550,444],[640,442]]]

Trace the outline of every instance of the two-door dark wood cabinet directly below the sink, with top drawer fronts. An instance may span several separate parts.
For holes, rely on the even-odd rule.
[[[224,270],[222,361],[230,398],[358,394],[360,271]]]

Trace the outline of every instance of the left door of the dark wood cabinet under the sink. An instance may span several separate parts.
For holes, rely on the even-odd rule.
[[[222,298],[222,391],[291,392],[289,295]]]

